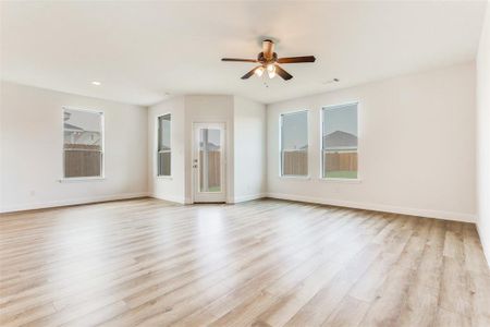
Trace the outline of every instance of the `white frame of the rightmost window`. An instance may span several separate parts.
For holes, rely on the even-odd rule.
[[[356,110],[357,110],[357,178],[355,179],[345,179],[345,178],[326,178],[323,177],[323,110],[329,110],[329,109],[338,109],[338,108],[342,108],[342,107],[348,107],[348,106],[353,106],[356,105]],[[319,170],[319,177],[318,179],[321,181],[326,181],[326,182],[342,182],[342,183],[360,183],[362,179],[360,179],[360,143],[359,143],[359,135],[360,135],[360,101],[359,100],[353,100],[353,101],[347,101],[347,102],[341,102],[341,104],[334,104],[334,105],[328,105],[328,106],[321,106],[320,108],[320,142],[319,142],[319,149],[320,149],[320,170]]]

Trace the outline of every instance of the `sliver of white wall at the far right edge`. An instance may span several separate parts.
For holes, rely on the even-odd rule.
[[[478,231],[490,264],[490,4],[477,58]]]

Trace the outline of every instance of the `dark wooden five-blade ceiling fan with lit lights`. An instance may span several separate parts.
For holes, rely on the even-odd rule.
[[[252,75],[256,74],[261,76],[265,71],[269,75],[269,78],[273,78],[275,74],[287,81],[293,78],[293,75],[283,70],[279,63],[299,63],[299,62],[315,62],[314,56],[303,57],[285,57],[278,58],[278,53],[274,52],[274,43],[270,39],[262,41],[262,52],[258,53],[257,59],[240,59],[240,58],[222,58],[222,61],[242,61],[242,62],[257,62],[258,66],[242,76],[242,80],[247,80]]]

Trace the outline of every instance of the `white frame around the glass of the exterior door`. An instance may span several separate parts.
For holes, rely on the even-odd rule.
[[[217,199],[217,201],[197,201],[197,193],[198,190],[197,187],[199,186],[199,183],[197,181],[198,178],[198,167],[194,168],[195,165],[195,160],[198,160],[198,135],[196,134],[196,131],[199,126],[207,126],[212,129],[213,126],[216,129],[220,129],[222,131],[222,135],[221,135],[221,192],[220,193],[215,193],[215,195],[222,195],[221,198]],[[192,192],[191,192],[191,196],[192,196],[192,203],[226,203],[228,202],[228,130],[226,130],[226,122],[225,121],[199,121],[199,122],[193,122],[192,124],[192,152],[191,152],[192,156],[191,156],[191,173],[192,173]],[[200,162],[198,162],[200,165]],[[212,192],[209,193],[210,197],[212,197]]]

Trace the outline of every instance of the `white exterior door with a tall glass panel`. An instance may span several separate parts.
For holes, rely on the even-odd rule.
[[[224,123],[194,124],[194,202],[225,202]]]

